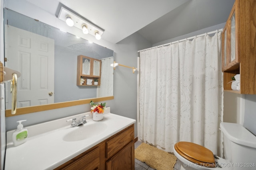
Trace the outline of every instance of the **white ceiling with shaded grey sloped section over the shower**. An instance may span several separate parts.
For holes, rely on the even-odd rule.
[[[138,31],[152,44],[226,22],[234,0],[27,0],[50,14],[64,4],[118,43]]]

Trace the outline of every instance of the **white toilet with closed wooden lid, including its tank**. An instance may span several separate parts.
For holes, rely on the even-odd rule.
[[[181,170],[255,170],[256,136],[237,123],[220,123],[225,159],[211,150],[186,141],[174,145]]]

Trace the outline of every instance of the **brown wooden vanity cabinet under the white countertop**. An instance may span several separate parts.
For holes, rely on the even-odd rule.
[[[134,170],[134,124],[55,170]]]

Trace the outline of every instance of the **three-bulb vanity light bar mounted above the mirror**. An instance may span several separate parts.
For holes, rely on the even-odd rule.
[[[81,29],[84,34],[89,33],[90,35],[95,36],[95,38],[98,40],[101,38],[102,34],[105,31],[98,25],[95,25],[94,23],[80,16],[73,10],[68,9],[66,6],[65,8],[61,6],[58,18],[62,21],[65,21],[69,26],[74,26],[78,29]],[[71,23],[73,23],[73,25]]]

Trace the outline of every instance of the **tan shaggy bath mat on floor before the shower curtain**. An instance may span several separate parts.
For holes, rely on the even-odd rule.
[[[135,158],[141,162],[145,162],[148,166],[156,170],[173,170],[177,160],[175,155],[146,143],[140,144],[135,149]]]

